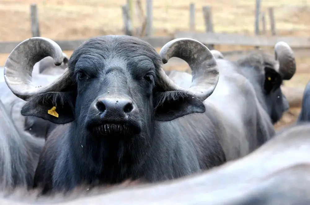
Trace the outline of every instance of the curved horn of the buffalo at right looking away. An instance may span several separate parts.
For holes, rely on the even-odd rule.
[[[282,74],[284,80],[290,80],[296,71],[293,50],[288,44],[280,41],[274,46],[274,53],[275,59],[279,63],[279,73]]]

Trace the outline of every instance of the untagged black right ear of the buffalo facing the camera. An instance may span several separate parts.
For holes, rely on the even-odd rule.
[[[153,99],[154,117],[157,121],[170,121],[191,113],[206,111],[200,99],[182,91],[156,92]]]

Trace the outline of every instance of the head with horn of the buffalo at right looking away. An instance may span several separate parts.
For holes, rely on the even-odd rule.
[[[265,101],[262,104],[266,105],[272,123],[280,120],[289,109],[288,100],[280,86],[283,80],[290,80],[296,71],[294,53],[288,44],[278,42],[274,46],[274,53],[273,57],[265,52],[253,52],[237,61],[255,90],[262,90],[262,100]]]

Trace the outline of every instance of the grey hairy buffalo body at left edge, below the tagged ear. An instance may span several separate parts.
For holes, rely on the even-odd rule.
[[[32,187],[44,139],[20,133],[0,100],[0,189]]]

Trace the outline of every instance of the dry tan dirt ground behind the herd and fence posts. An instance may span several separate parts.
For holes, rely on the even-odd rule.
[[[141,0],[145,8],[145,0]],[[210,6],[215,32],[254,33],[255,1],[249,0],[182,0],[153,1],[154,36],[172,35],[175,31],[186,31],[189,27],[189,4],[195,2],[196,31],[204,32],[202,6]],[[122,34],[121,6],[126,0],[0,0],[0,41],[22,41],[31,37],[29,7],[37,3],[41,36],[53,40],[87,39],[93,36]],[[266,14],[267,35],[270,35],[268,7],[274,7],[278,35],[308,36],[310,32],[310,0],[262,1],[262,11]],[[135,1],[132,4],[133,24],[138,26],[135,15]],[[144,9],[145,10],[145,9]],[[242,50],[240,46],[216,46],[220,51]],[[159,51],[160,48],[157,48]],[[64,51],[68,56],[72,51]],[[297,73],[286,86],[304,87],[310,75],[309,51],[295,54]],[[4,65],[8,54],[0,54],[0,66]],[[186,65],[169,69],[186,69]],[[299,108],[292,108],[276,127],[294,123]]]

